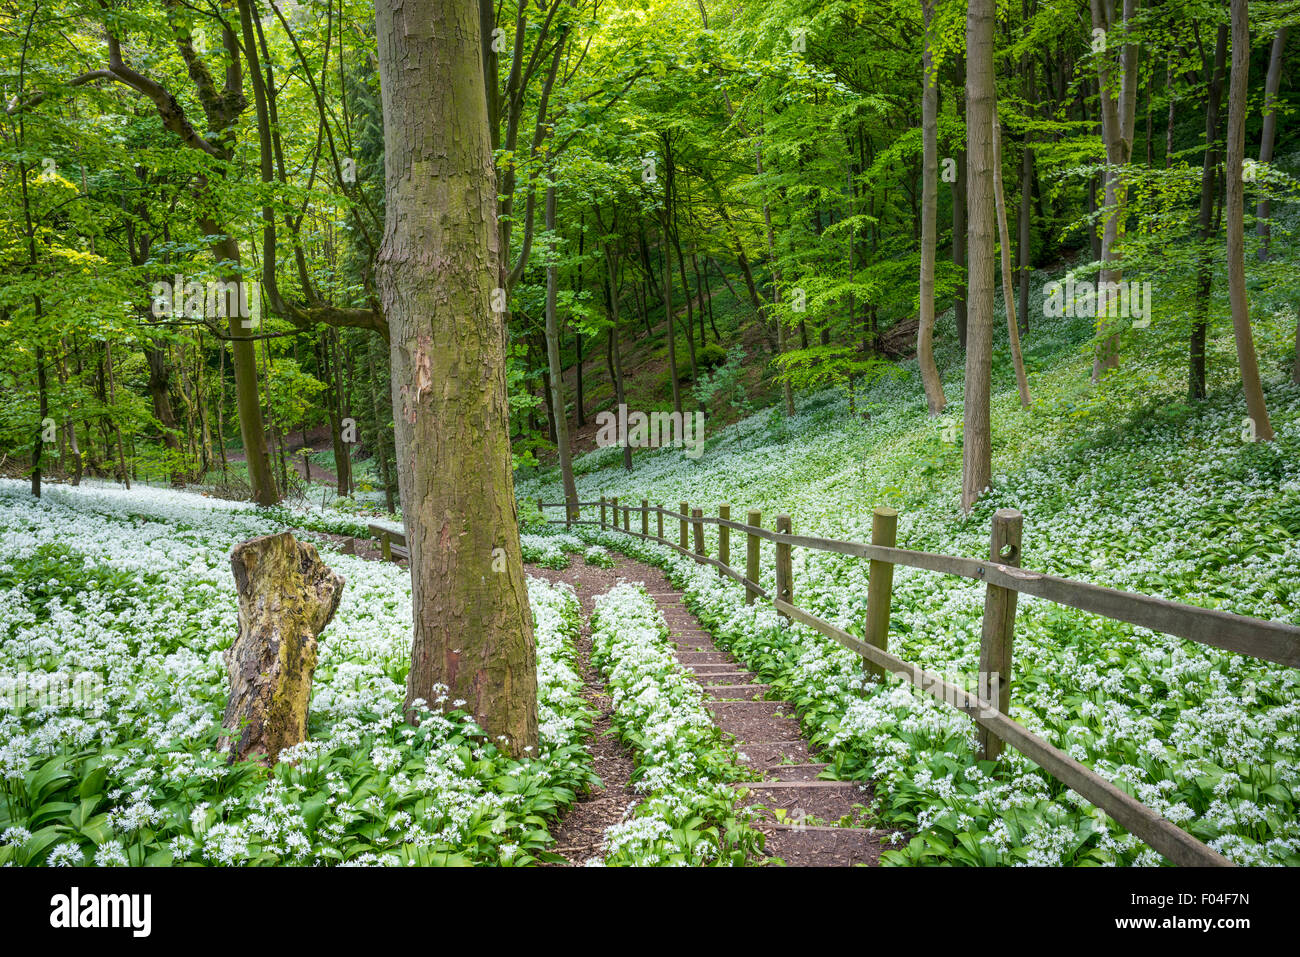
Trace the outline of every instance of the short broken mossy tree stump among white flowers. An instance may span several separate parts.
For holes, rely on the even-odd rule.
[[[316,636],[343,594],[343,576],[289,532],[251,538],[230,553],[239,593],[239,635],[226,649],[230,698],[220,748],[230,763],[307,739]]]

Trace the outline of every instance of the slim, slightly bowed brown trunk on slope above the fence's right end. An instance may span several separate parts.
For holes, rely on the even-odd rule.
[[[1227,92],[1227,148],[1223,176],[1227,179],[1227,295],[1232,306],[1232,337],[1236,339],[1236,361],[1242,369],[1245,408],[1251,416],[1254,438],[1273,441],[1273,424],[1264,404],[1260,361],[1251,333],[1251,303],[1245,291],[1245,189],[1242,163],[1245,156],[1247,81],[1251,73],[1251,21],[1247,0],[1232,0],[1232,79]]]

